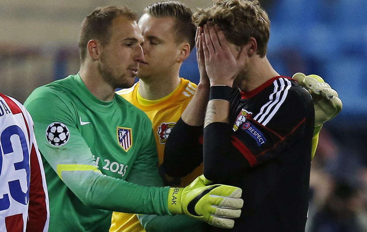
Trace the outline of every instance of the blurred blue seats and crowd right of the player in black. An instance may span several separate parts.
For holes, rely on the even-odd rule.
[[[317,73],[344,103],[320,133],[306,231],[367,231],[367,1],[280,0],[268,7],[269,59],[277,70]]]

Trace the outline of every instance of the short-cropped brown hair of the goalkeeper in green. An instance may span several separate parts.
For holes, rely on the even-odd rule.
[[[128,7],[97,7],[83,20],[79,33],[79,54],[83,63],[87,55],[87,44],[91,39],[97,39],[102,46],[106,46],[111,39],[111,25],[113,19],[123,15],[131,21],[138,21],[136,12]]]

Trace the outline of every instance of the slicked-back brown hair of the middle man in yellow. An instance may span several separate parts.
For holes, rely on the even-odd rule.
[[[192,10],[185,4],[178,1],[161,1],[147,6],[144,13],[156,18],[174,18],[175,42],[182,43],[186,41],[190,44],[190,51],[194,48],[196,26],[191,21]]]

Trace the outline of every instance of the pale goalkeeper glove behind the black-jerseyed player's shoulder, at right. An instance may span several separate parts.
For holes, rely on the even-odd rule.
[[[333,119],[342,110],[343,103],[337,91],[317,75],[306,76],[303,73],[295,73],[292,77],[298,84],[304,87],[312,96],[315,106],[315,130],[314,135],[319,133],[322,125]]]

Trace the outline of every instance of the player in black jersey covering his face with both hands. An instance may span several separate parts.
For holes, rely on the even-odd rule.
[[[204,162],[206,178],[242,188],[232,231],[304,231],[315,126],[310,94],[266,58],[270,22],[258,1],[217,0],[194,22],[199,86],[210,84],[210,92],[198,86],[171,131],[166,173],[181,177]]]

